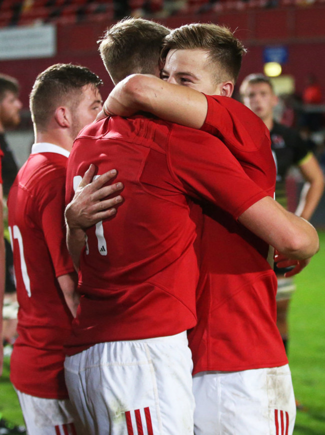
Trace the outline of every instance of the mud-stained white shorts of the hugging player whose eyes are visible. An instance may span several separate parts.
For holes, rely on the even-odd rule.
[[[195,435],[291,435],[295,401],[288,365],[193,376]]]

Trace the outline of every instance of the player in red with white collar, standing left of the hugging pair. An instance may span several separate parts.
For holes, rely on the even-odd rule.
[[[71,64],[37,76],[30,94],[35,143],[8,196],[19,303],[10,379],[32,435],[84,433],[63,372],[63,342],[78,304],[65,246],[65,166],[75,136],[101,109],[100,84],[90,70]]]

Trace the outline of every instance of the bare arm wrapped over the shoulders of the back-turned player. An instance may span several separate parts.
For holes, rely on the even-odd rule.
[[[133,74],[115,86],[103,110],[106,114],[120,116],[144,111],[185,127],[201,128],[207,101],[203,94],[186,86],[167,83],[151,75]]]

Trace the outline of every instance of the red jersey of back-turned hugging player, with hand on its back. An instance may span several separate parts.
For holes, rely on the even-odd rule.
[[[265,192],[211,135],[143,116],[85,127],[67,165],[66,201],[94,163],[124,184],[117,215],[87,230],[82,294],[67,354],[95,343],[176,334],[196,323],[192,199],[235,219]],[[242,189],[236,189],[240,184]]]

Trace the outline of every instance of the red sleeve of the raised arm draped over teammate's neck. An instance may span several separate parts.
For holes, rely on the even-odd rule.
[[[221,139],[229,149],[256,151],[261,139],[266,136],[269,140],[265,124],[243,104],[229,97],[205,95],[205,98],[207,114],[201,130]]]

